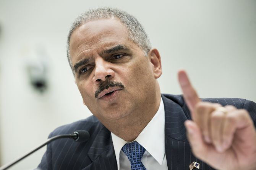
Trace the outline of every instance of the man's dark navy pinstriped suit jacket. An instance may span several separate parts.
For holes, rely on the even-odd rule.
[[[200,164],[201,170],[213,170],[191,153],[186,138],[184,121],[190,119],[190,112],[181,95],[163,94],[165,109],[165,154],[169,170],[188,170],[191,162]],[[245,108],[256,123],[256,103],[245,99],[203,99],[203,101],[234,105]],[[87,119],[58,127],[49,137],[87,130],[91,137],[87,142],[77,143],[60,139],[47,145],[47,151],[38,168],[42,170],[117,170],[117,162],[110,131],[97,118]],[[150,137],[149,137],[150,139]]]

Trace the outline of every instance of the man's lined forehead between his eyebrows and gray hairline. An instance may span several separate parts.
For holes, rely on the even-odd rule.
[[[126,26],[118,19],[89,21],[78,27],[71,35],[71,60],[83,51],[104,50],[116,44],[131,42]]]

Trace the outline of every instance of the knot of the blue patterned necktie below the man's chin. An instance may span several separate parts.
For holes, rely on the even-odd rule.
[[[141,158],[146,149],[143,148],[143,146],[141,146],[138,142],[133,141],[131,143],[126,143],[123,146],[122,151],[126,154],[132,165],[141,162]]]

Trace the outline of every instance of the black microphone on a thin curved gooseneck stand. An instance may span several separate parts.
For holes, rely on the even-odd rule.
[[[6,170],[10,168],[11,166],[15,165],[25,157],[29,156],[30,154],[36,152],[38,149],[42,148],[43,146],[47,145],[48,143],[60,139],[60,138],[72,138],[77,142],[85,142],[89,139],[90,134],[86,130],[76,130],[74,133],[70,134],[64,134],[64,135],[57,135],[54,137],[49,138],[46,142],[42,143],[40,146],[36,147],[35,149],[29,151],[28,153],[24,154],[23,156],[19,157],[18,159],[14,160],[13,162],[10,162],[9,164],[6,164],[2,167],[0,167],[0,170]]]

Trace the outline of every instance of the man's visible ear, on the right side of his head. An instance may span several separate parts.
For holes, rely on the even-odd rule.
[[[150,49],[148,59],[153,66],[155,78],[159,78],[162,75],[162,64],[160,54],[156,48]]]

